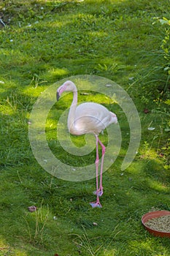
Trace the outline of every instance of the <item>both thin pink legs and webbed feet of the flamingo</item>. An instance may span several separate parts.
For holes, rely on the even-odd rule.
[[[98,189],[98,162],[99,162],[99,157],[98,157],[98,143],[100,143],[101,148],[102,148],[102,157],[101,157],[101,173],[100,173],[100,187]],[[94,192],[95,195],[97,195],[96,202],[90,203],[90,205],[94,207],[99,207],[101,208],[101,203],[99,201],[99,196],[103,194],[103,187],[102,187],[102,171],[103,171],[103,164],[104,164],[104,154],[105,154],[105,146],[101,141],[98,139],[98,136],[96,135],[96,192]]]

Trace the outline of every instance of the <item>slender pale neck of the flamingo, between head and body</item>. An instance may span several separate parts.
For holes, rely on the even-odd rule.
[[[72,131],[72,129],[74,129],[74,120],[75,120],[75,111],[77,108],[77,90],[73,91],[73,101],[72,101],[72,105],[69,109],[69,116],[67,119],[67,126],[69,128],[69,132]]]

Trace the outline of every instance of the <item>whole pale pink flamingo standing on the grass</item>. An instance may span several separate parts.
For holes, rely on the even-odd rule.
[[[63,94],[63,91],[72,91],[73,92],[73,100],[72,105],[69,109],[69,115],[67,119],[67,127],[69,132],[72,135],[85,135],[87,133],[92,133],[96,137],[96,191],[93,192],[96,195],[96,201],[91,202],[90,206],[101,208],[101,203],[99,197],[103,195],[103,186],[102,186],[102,172],[104,165],[104,154],[106,151],[106,147],[101,140],[99,140],[98,135],[105,128],[109,126],[109,124],[117,123],[117,116],[115,113],[110,112],[103,105],[94,102],[84,102],[80,105],[77,105],[77,87],[75,84],[67,80],[63,85],[61,85],[57,90],[57,101]],[[98,187],[98,145],[101,146],[102,156],[101,156],[101,170],[100,170],[100,183]]]

